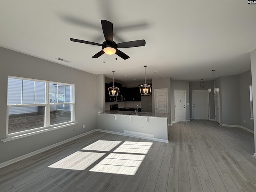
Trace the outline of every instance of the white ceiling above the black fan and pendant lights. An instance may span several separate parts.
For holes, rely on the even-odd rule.
[[[107,78],[115,70],[122,82],[143,81],[144,65],[147,80],[212,80],[212,69],[216,77],[250,70],[255,18],[246,0],[0,0],[0,46]],[[92,58],[100,46],[69,39],[103,43],[100,20],[113,23],[116,43],[146,46],[120,48],[127,60]]]

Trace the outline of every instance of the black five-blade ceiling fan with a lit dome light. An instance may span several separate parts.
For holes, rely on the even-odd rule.
[[[122,43],[116,43],[113,41],[113,24],[112,22],[109,22],[107,20],[101,20],[102,30],[105,37],[105,40],[102,44],[90,42],[90,41],[84,41],[79,39],[73,39],[70,38],[71,41],[78,42],[78,43],[85,43],[85,44],[91,44],[91,45],[98,45],[102,46],[102,50],[98,53],[96,53],[92,58],[98,58],[99,56],[103,55],[104,53],[112,55],[117,54],[123,59],[130,58],[128,55],[126,55],[124,52],[118,50],[118,48],[129,48],[129,47],[139,47],[144,46],[146,44],[146,41],[143,40],[136,40],[136,41],[128,41],[128,42],[122,42]]]

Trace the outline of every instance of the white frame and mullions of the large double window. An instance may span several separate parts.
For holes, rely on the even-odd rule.
[[[36,103],[36,104],[8,104],[8,96],[7,96],[7,108],[6,108],[6,138],[14,138],[17,136],[23,136],[23,135],[28,135],[30,133],[38,133],[38,132],[44,132],[45,130],[54,130],[56,128],[62,128],[66,127],[68,125],[72,125],[75,123],[75,85],[74,84],[68,84],[68,83],[61,83],[61,82],[52,82],[52,81],[45,81],[45,80],[38,80],[38,79],[30,79],[30,78],[21,78],[21,77],[16,77],[16,76],[8,76],[8,78],[14,78],[14,79],[20,79],[20,80],[30,80],[30,81],[37,81],[37,82],[44,82],[46,83],[45,87],[45,103]],[[66,102],[64,101],[63,103],[50,103],[49,99],[49,85],[50,83],[53,84],[62,84],[66,86],[72,86],[72,102]],[[22,96],[22,95],[21,95]],[[63,122],[59,124],[54,124],[50,125],[50,107],[51,105],[65,105],[65,104],[71,104],[71,121],[69,122]],[[34,128],[30,130],[24,130],[20,132],[15,132],[15,133],[8,133],[8,124],[9,124],[9,108],[11,107],[26,107],[26,106],[45,106],[45,113],[44,113],[44,127],[40,128]]]

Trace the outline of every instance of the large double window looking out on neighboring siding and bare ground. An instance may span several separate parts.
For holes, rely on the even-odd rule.
[[[74,85],[8,77],[7,134],[74,122]]]

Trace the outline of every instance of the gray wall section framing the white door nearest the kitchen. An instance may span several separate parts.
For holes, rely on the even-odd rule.
[[[152,79],[152,112],[155,112],[155,89],[165,89],[167,88],[168,95],[168,113],[171,113],[171,78],[156,78]],[[168,124],[171,124],[171,117],[168,118]]]

